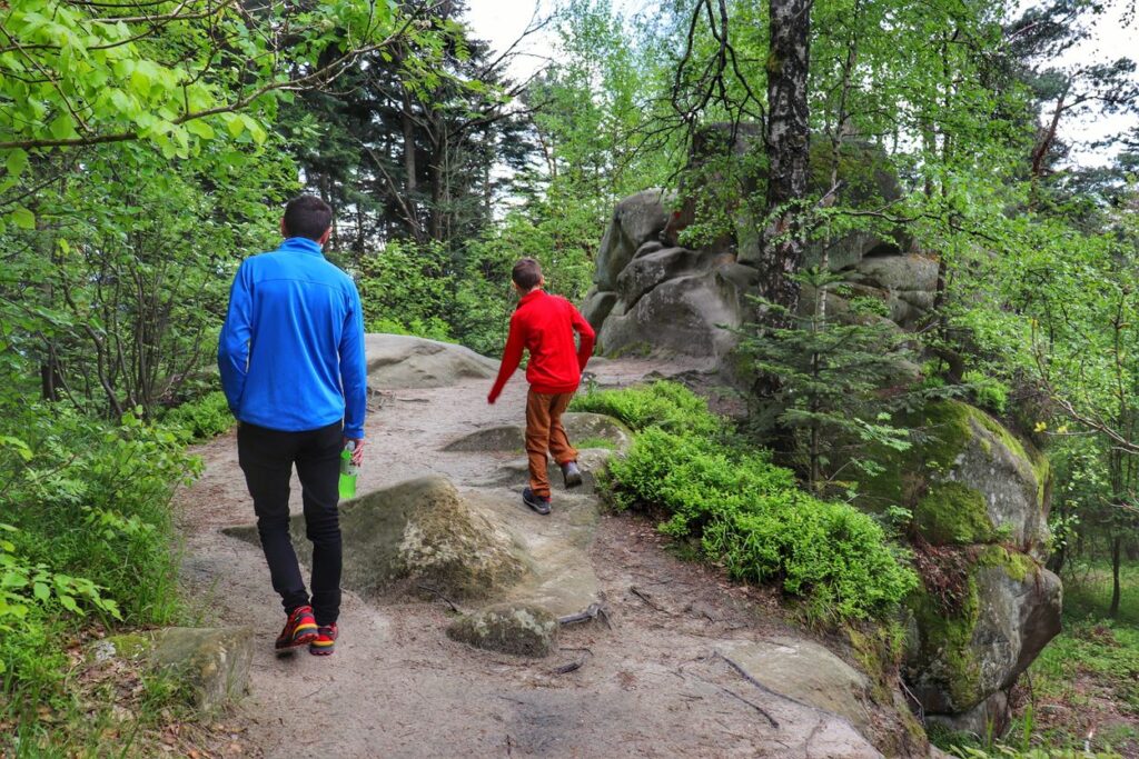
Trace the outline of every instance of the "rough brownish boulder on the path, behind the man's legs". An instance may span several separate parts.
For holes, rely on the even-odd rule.
[[[493,512],[474,506],[442,477],[374,490],[341,505],[343,584],[379,596],[396,584],[425,585],[452,599],[502,593],[526,574],[518,546]],[[226,530],[256,543],[255,527]],[[292,521],[293,545],[309,561],[304,518]]]

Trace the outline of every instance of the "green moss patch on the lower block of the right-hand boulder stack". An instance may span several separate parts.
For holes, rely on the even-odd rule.
[[[927,662],[926,670],[940,675],[956,707],[975,703],[981,663],[969,644],[981,617],[976,580],[968,579],[965,600],[954,613],[947,613],[925,588],[911,593],[907,605],[921,630],[921,660]]]

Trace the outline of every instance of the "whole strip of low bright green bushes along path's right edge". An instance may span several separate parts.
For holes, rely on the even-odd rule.
[[[616,508],[662,517],[663,533],[697,539],[736,579],[778,584],[810,619],[884,618],[916,586],[901,548],[874,519],[800,489],[790,470],[735,439],[727,420],[683,386],[593,390],[574,407],[638,432],[609,465]]]

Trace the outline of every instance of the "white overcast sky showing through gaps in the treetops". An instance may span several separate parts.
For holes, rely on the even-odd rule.
[[[468,0],[468,20],[475,34],[490,40],[498,50],[502,50],[522,34],[535,8],[541,13],[549,13],[552,7],[551,0]],[[1139,55],[1139,24],[1136,23],[1134,13],[1128,13],[1129,8],[1133,10],[1134,0],[1108,0],[1108,3],[1106,11],[1095,18],[1090,38],[1068,51],[1060,61],[1062,65],[1075,67]],[[612,5],[617,10],[631,14],[652,13],[656,3],[649,0],[612,0]],[[532,67],[539,66],[550,55],[551,41],[549,35],[538,35],[523,46],[522,49],[532,57],[516,64],[516,74],[524,75],[528,73],[527,69],[533,71]],[[1063,122],[1062,137],[1081,145],[1074,156],[1079,163],[1104,164],[1112,154],[1092,150],[1089,143],[1137,126],[1139,118],[1134,116],[1125,118],[1093,114],[1082,119],[1070,118]]]

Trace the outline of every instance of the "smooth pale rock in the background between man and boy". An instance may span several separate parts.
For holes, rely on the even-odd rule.
[[[444,387],[489,379],[498,364],[470,348],[408,335],[364,336],[368,383],[377,389]]]

